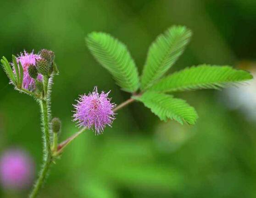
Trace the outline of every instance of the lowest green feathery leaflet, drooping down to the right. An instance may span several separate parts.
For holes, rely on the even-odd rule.
[[[194,107],[189,106],[182,99],[173,98],[171,95],[146,91],[142,96],[133,96],[135,100],[143,102],[144,105],[155,113],[161,120],[173,119],[179,123],[195,124],[198,118]]]

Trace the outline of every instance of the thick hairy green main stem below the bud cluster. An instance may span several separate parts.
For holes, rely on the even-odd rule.
[[[41,114],[42,114],[42,121],[43,121],[43,140],[44,140],[44,164],[42,166],[42,169],[39,173],[39,178],[37,179],[32,192],[29,196],[29,198],[35,198],[42,187],[45,177],[47,176],[47,173],[50,168],[50,164],[52,162],[52,154],[51,154],[51,146],[50,146],[50,127],[49,127],[49,105],[47,98],[47,88],[48,88],[48,79],[45,79],[45,98],[43,100],[40,100],[40,107],[41,107]]]

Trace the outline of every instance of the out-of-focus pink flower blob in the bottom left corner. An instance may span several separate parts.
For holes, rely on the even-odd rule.
[[[3,187],[21,190],[29,187],[34,175],[33,161],[29,155],[17,149],[4,152],[0,158],[0,182]]]

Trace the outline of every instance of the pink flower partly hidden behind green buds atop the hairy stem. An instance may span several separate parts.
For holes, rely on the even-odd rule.
[[[35,80],[29,76],[28,66],[30,64],[35,65],[36,59],[40,59],[40,55],[33,54],[33,51],[30,54],[24,51],[24,53],[21,53],[21,55],[17,57],[17,64],[20,62],[24,70],[22,88],[29,91],[33,91],[35,89]],[[43,75],[39,74],[37,76],[37,80],[42,81]]]

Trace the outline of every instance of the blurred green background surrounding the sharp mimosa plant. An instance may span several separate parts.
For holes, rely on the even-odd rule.
[[[139,71],[150,43],[174,24],[192,29],[193,37],[169,72],[256,59],[255,0],[1,0],[0,21],[1,56],[56,53],[52,114],[63,122],[61,139],[78,130],[72,104],[79,94],[98,86],[111,90],[117,104],[129,97],[89,54],[89,32],[109,32],[127,44]],[[8,82],[0,70],[0,151],[28,150],[38,171],[39,106]],[[88,131],[67,148],[39,198],[255,198],[255,120],[230,110],[224,91],[176,95],[197,109],[195,126],[160,122],[143,104],[131,104],[103,135]],[[10,195],[1,188],[0,197]]]

